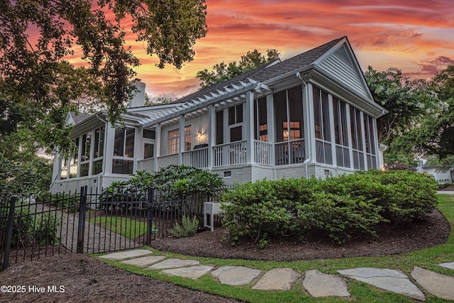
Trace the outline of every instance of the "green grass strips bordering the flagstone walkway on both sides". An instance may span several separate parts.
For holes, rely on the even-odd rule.
[[[343,259],[326,259],[326,260],[309,260],[309,261],[293,261],[293,262],[275,262],[275,261],[250,261],[250,260],[223,260],[216,258],[196,258],[186,255],[177,255],[175,253],[160,252],[155,250],[156,255],[166,255],[170,258],[182,258],[199,260],[201,264],[211,264],[216,267],[225,265],[247,266],[249,268],[257,268],[265,272],[272,268],[292,268],[301,275],[306,270],[318,269],[326,274],[334,275],[336,270],[345,268],[357,267],[373,267],[373,268],[392,268],[402,270],[410,279],[411,270],[415,266],[441,272],[446,275],[454,275],[454,270],[441,268],[437,266],[439,263],[452,262],[454,260],[454,200],[453,197],[441,194],[438,195],[438,209],[449,221],[451,233],[448,241],[439,246],[416,250],[410,253],[399,255],[388,255],[383,257],[362,257],[362,258],[343,258]],[[148,247],[148,249],[151,249]],[[95,255],[96,256],[96,255]],[[104,262],[123,268],[138,275],[145,275],[159,280],[172,282],[175,285],[189,287],[194,290],[201,290],[211,294],[218,294],[223,297],[240,299],[245,302],[416,302],[410,297],[401,294],[394,294],[380,290],[377,287],[367,285],[355,280],[348,280],[348,290],[351,297],[348,299],[340,297],[324,297],[314,298],[307,294],[301,285],[301,278],[289,291],[260,291],[252,290],[252,285],[245,286],[230,286],[221,285],[211,275],[204,275],[196,280],[186,279],[183,277],[175,277],[165,275],[159,270],[145,270],[138,266],[126,265],[120,261],[104,260]],[[416,283],[414,280],[412,280]],[[434,297],[428,292],[425,293],[426,302],[449,302],[444,299]]]

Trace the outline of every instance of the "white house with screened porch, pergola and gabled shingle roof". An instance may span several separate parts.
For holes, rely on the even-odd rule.
[[[137,170],[191,165],[226,184],[323,177],[382,166],[372,99],[348,38],[245,72],[172,104],[143,106],[145,84],[122,115],[68,114],[79,147],[55,158],[52,192],[101,189]]]

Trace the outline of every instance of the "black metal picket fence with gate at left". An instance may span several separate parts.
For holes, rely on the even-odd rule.
[[[44,201],[11,198],[0,202],[0,264],[60,253],[102,253],[150,244],[170,235],[182,216],[203,227],[204,202],[218,192],[179,194],[148,188],[142,192],[55,194]],[[214,197],[213,197],[214,196]],[[220,226],[220,217],[214,222]]]

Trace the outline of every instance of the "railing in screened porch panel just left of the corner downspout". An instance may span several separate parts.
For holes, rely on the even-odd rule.
[[[304,162],[304,139],[275,144],[275,165],[288,165]]]

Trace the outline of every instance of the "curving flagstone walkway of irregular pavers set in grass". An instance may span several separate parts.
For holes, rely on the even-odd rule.
[[[153,255],[153,250],[148,249],[109,253],[99,258],[119,260],[145,270],[160,270],[167,275],[194,280],[202,275],[210,274],[221,284],[251,285],[253,290],[290,290],[302,277],[304,289],[313,297],[350,297],[347,281],[353,279],[389,292],[404,294],[419,301],[426,300],[421,290],[442,299],[454,300],[454,276],[419,267],[415,267],[411,272],[411,277],[419,284],[418,287],[401,270],[387,268],[350,268],[338,270],[338,275],[326,275],[319,270],[306,270],[301,276],[292,268],[274,268],[266,272],[243,266],[216,268],[212,264],[200,264],[198,260]],[[454,270],[454,262],[441,263],[439,266]]]

